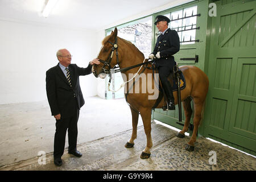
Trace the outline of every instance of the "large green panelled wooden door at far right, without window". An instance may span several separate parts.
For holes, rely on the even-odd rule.
[[[256,1],[217,1],[204,136],[256,155]]]

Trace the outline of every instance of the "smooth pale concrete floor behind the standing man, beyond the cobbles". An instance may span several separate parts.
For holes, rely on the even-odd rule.
[[[122,114],[117,114],[120,111]],[[138,126],[141,125],[139,118]],[[125,100],[89,97],[80,110],[77,144],[131,128],[131,113]],[[0,105],[0,167],[33,158],[39,151],[52,152],[54,134],[55,119],[48,101]]]

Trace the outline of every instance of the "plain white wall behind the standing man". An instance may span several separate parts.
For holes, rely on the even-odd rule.
[[[68,27],[68,24],[67,24]],[[87,67],[98,54],[96,32],[0,20],[0,104],[46,100],[46,71],[56,51],[67,48],[72,63]],[[84,97],[97,94],[97,79],[80,77]]]

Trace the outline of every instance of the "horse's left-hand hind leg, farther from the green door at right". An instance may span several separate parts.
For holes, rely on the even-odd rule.
[[[192,115],[192,109],[191,109],[191,98],[186,98],[183,102],[183,108],[185,111],[185,123],[183,129],[177,134],[177,137],[184,138],[185,132],[188,131],[191,115]]]

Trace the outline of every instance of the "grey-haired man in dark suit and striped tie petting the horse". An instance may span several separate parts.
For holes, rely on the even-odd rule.
[[[59,63],[46,72],[46,92],[51,113],[56,119],[54,163],[61,166],[67,129],[68,153],[77,157],[82,156],[81,152],[76,150],[77,121],[79,110],[84,105],[79,76],[92,73],[92,65],[100,64],[100,61],[90,61],[87,68],[77,67],[76,64],[71,64],[72,55],[67,49],[57,51],[57,59]]]

